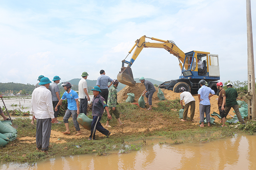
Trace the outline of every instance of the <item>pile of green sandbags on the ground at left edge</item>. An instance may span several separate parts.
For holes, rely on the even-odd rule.
[[[0,147],[17,138],[17,130],[11,124],[10,120],[0,121]]]

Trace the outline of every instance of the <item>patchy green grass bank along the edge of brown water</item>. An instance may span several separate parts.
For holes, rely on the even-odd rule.
[[[256,123],[249,121],[245,125],[238,124],[224,128],[219,128],[218,123],[211,127],[199,128],[191,122],[181,122],[178,119],[178,111],[181,108],[179,100],[161,101],[158,102],[158,107],[153,107],[151,111],[141,109],[135,104],[120,103],[117,107],[120,111],[121,120],[130,120],[134,125],[139,125],[146,128],[146,131],[139,132],[136,129],[133,132],[120,132],[111,135],[109,138],[97,137],[97,140],[89,141],[88,136],[80,139],[67,139],[67,143],[55,144],[50,143],[49,153],[46,155],[35,150],[35,144],[22,143],[20,140],[9,142],[5,147],[0,148],[0,162],[28,162],[35,163],[45,158],[64,157],[69,155],[79,155],[87,153],[95,153],[96,155],[104,155],[109,151],[126,153],[131,150],[139,150],[146,144],[147,139],[162,137],[163,139],[172,139],[171,144],[181,144],[184,142],[209,142],[219,138],[230,137],[238,132],[246,132],[253,134],[256,132]],[[91,112],[87,113],[89,118],[92,118]],[[105,124],[107,114],[104,113],[101,123]],[[149,130],[149,124],[155,119],[159,119],[161,129]],[[20,137],[35,137],[36,126],[30,124],[30,119],[14,119],[13,124],[18,125],[18,138]],[[111,120],[111,125],[115,127],[117,120],[114,116]],[[69,121],[69,127],[74,127],[72,120]],[[129,127],[129,126],[128,126]],[[129,127],[133,128],[133,127]],[[125,128],[124,128],[125,129]],[[52,130],[65,131],[64,124],[52,124]],[[70,129],[71,133],[75,129]],[[64,138],[60,138],[64,139]],[[139,142],[138,142],[139,141]],[[129,145],[128,145],[129,143]],[[77,148],[75,145],[81,145]]]

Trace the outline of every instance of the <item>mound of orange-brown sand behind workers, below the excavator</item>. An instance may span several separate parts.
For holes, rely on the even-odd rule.
[[[125,100],[127,99],[127,93],[134,93],[135,95],[135,99],[134,99],[134,103],[138,103],[138,99],[139,97],[141,97],[142,92],[146,89],[144,84],[142,83],[136,83],[137,87],[130,87],[130,86],[125,86],[121,91],[119,91],[117,93],[117,102],[125,102]],[[153,107],[157,107],[157,102],[159,102],[159,99],[157,97],[157,92],[158,92],[158,88],[156,88],[156,92],[154,92],[154,95],[152,97],[152,106]],[[174,99],[180,99],[180,94],[181,93],[175,93],[172,90],[167,90],[167,89],[161,89],[162,92],[164,93],[164,97],[168,100],[174,100]],[[194,115],[194,120],[199,122],[199,100],[198,100],[198,96],[197,94],[192,95],[195,98],[196,101],[196,110],[195,110],[195,115]],[[144,100],[146,101],[146,97],[144,97]],[[218,109],[218,104],[217,104],[217,100],[218,100],[218,96],[214,95],[211,97],[211,114],[213,112],[216,112],[219,114],[219,109]],[[183,105],[184,101],[183,101]],[[146,105],[147,106],[147,105]],[[234,116],[235,114],[233,113],[233,109],[231,109],[231,111],[229,111],[229,114],[231,114],[232,116]],[[190,109],[188,111],[188,117],[190,117]],[[230,118],[231,116],[227,116],[228,118]],[[214,118],[216,119],[215,121],[219,121],[217,116],[214,116]]]

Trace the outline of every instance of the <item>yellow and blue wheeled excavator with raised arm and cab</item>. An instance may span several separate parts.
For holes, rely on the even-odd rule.
[[[158,42],[146,42],[146,38]],[[136,49],[134,50],[135,47]],[[136,87],[136,81],[134,81],[131,66],[143,48],[163,48],[170,54],[176,56],[179,61],[179,67],[181,68],[181,76],[179,76],[179,79],[166,81],[160,84],[159,88],[180,92],[180,88],[185,87],[186,91],[196,94],[200,88],[199,81],[204,79],[208,86],[218,95],[218,88],[216,86],[216,83],[218,83],[220,79],[218,55],[202,51],[184,53],[173,41],[160,40],[147,37],[146,35],[136,40],[134,46],[128,52],[127,56],[134,50],[130,61],[125,60],[127,56],[122,60],[121,71],[117,74],[117,79],[120,83]],[[124,64],[127,64],[127,66],[125,67]]]

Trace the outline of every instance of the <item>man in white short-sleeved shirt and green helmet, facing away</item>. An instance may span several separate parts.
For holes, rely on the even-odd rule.
[[[80,98],[80,107],[79,111],[80,113],[84,113],[87,115],[87,106],[88,106],[88,101],[90,101],[90,97],[88,94],[88,89],[87,89],[87,76],[89,74],[87,72],[82,73],[82,78],[78,83],[78,96]]]

